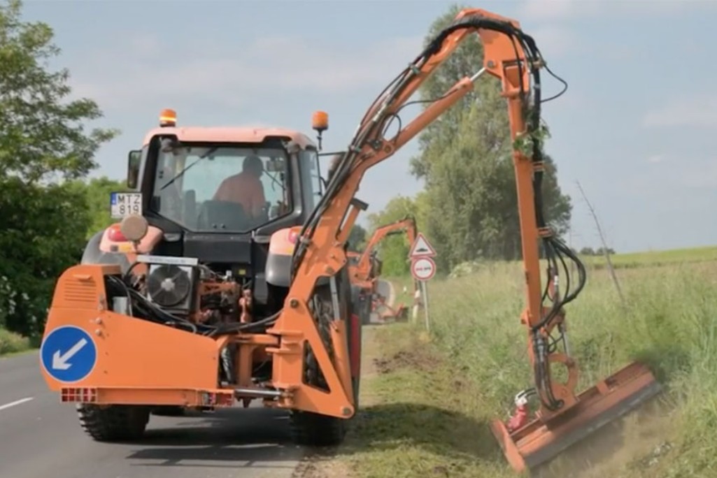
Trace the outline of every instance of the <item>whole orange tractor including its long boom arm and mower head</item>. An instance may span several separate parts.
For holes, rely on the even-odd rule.
[[[384,137],[422,82],[470,34],[483,42],[482,68]],[[462,10],[369,107],[315,204],[317,148],[305,135],[171,124],[151,131],[142,150],[130,154],[139,191],[110,201],[123,216],[120,225],[95,237],[83,263],[57,281],[40,350],[47,386],[77,403],[83,426],[100,440],[140,436],[155,408],[229,407],[258,398],[290,411],[298,442],[340,443],[359,406],[361,373],[361,323],[345,245],[366,204],[354,195],[371,166],[488,73],[500,81],[514,140],[526,280],[521,322],[534,375],[534,386],[516,396],[516,414],[507,423],[496,419],[493,434],[521,470],[654,395],[660,387],[640,363],[576,392],[565,306],[581,291],[586,271],[543,216],[543,69],[550,72],[518,21]],[[313,119],[320,140],[326,113]],[[234,192],[249,209],[217,199],[214,188],[252,156],[267,172],[262,181],[272,200],[242,198],[242,191],[259,196],[246,177],[230,182],[246,186]],[[294,226],[298,221],[303,225]],[[539,244],[548,265],[544,289]],[[565,259],[576,264],[576,280],[558,280]],[[551,374],[560,365],[568,372],[564,383]]]

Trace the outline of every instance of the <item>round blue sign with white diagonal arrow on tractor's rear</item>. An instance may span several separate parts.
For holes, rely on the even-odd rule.
[[[74,325],[52,330],[40,346],[45,371],[57,381],[72,383],[90,375],[97,363],[92,336]]]

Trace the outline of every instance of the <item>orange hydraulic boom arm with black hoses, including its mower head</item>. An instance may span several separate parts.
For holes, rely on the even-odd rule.
[[[409,104],[409,97],[470,34],[478,34],[483,44],[483,67],[475,75],[456,82],[393,138],[385,138],[386,127],[391,120],[398,117],[402,108]],[[346,264],[344,245],[359,209],[365,209],[361,201],[354,199],[361,178],[369,168],[392,156],[471,92],[474,82],[485,73],[500,80],[502,95],[507,102],[510,135],[513,140],[513,164],[526,284],[526,309],[521,322],[528,330],[528,352],[535,381],[535,388],[522,395],[519,406],[525,406],[524,399],[531,393],[536,393],[541,403],[538,419],[535,421],[529,424],[518,421],[515,428],[509,425],[507,430],[502,424],[494,424],[494,434],[513,467],[523,469],[526,462],[536,463],[546,459],[547,452],[544,448],[547,446],[552,449],[564,448],[566,445],[560,436],[568,436],[570,439],[581,436],[585,429],[592,429],[590,426],[584,426],[588,419],[606,421],[607,408],[622,401],[635,403],[633,398],[650,386],[653,381],[650,373],[633,367],[623,369],[576,396],[578,373],[576,363],[569,355],[564,335],[563,307],[575,299],[583,288],[586,277],[579,258],[564,242],[554,236],[543,217],[541,102],[546,101],[541,100],[540,70],[543,67],[551,73],[533,38],[521,30],[518,21],[483,9],[464,9],[369,107],[353,140],[341,155],[325,195],[300,231],[300,239],[293,255],[292,282],[285,307],[275,326],[268,331],[281,335],[282,343],[288,344],[280,350],[286,359],[274,362],[276,386],[300,382],[301,361],[297,343],[303,343],[303,340],[293,338],[298,335],[297,331],[301,330],[303,337],[315,351],[321,371],[331,389],[324,392],[300,387],[293,398],[300,408],[331,414],[338,414],[340,410],[341,416],[346,418],[354,413],[355,403],[351,398],[351,383],[347,379],[349,365],[343,340],[345,321],[336,317],[332,324],[335,338],[331,344],[332,360],[327,347],[320,340],[308,303],[318,278],[328,276],[335,280],[334,274]],[[539,244],[543,246],[542,258],[548,262],[544,291],[540,277]],[[571,284],[569,267],[564,257],[576,264],[579,275],[577,285]],[[558,281],[559,262],[564,268],[564,282]],[[571,286],[574,290],[571,290]],[[547,301],[551,304],[543,305]],[[555,328],[559,330],[558,338],[552,336]],[[563,345],[564,352],[558,351],[559,344]],[[551,365],[556,364],[567,368],[568,378],[565,383],[557,383],[551,378]],[[613,393],[616,388],[621,392]],[[567,413],[568,411],[570,413]],[[546,430],[550,432],[543,433]]]

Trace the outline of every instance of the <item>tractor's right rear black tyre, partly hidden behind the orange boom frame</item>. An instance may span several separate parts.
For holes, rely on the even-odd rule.
[[[348,268],[344,268],[338,274],[338,302],[341,317],[346,320],[348,332],[348,343],[351,344],[351,328],[348,322],[353,312],[351,300],[351,282],[348,279]],[[325,310],[318,313],[319,332],[324,343],[328,345],[329,356],[333,359],[333,345],[329,335],[329,317],[333,317],[333,302],[331,300],[331,288],[329,285],[316,287],[316,302]],[[359,328],[360,333],[361,328]],[[361,342],[359,341],[359,344]],[[359,345],[360,347],[360,345]],[[351,350],[349,350],[351,352]],[[360,350],[359,350],[360,355]],[[318,361],[310,350],[305,353],[305,381],[319,388],[328,390],[326,380],[320,373]],[[354,403],[358,409],[360,375],[353,379]],[[355,416],[355,414],[354,414]],[[335,416],[314,414],[308,411],[293,410],[290,413],[290,431],[296,444],[303,446],[337,446],[343,442],[348,429],[348,422],[351,419],[341,419]]]

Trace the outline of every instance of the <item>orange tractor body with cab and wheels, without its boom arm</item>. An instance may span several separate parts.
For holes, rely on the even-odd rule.
[[[328,126],[326,115],[315,120]],[[341,439],[345,410],[320,414],[312,395],[331,384],[318,366],[326,349],[300,335],[294,343],[290,330],[269,332],[288,297],[301,224],[324,192],[318,149],[282,128],[179,127],[174,110],[164,110],[130,152],[133,191],[110,198],[121,221],[92,236],[81,264],[60,277],[42,344],[47,383],[77,403],[90,436],[138,437],[150,414],[261,398],[293,408],[301,443]],[[303,303],[321,343],[350,351],[341,379],[356,394],[358,291],[348,267],[338,267]],[[336,317],[345,320],[340,338]],[[295,395],[294,373],[309,396]],[[277,377],[283,382],[267,385]]]

